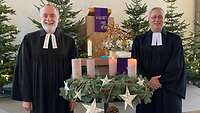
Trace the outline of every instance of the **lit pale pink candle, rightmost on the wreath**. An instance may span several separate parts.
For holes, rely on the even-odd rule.
[[[136,77],[137,76],[137,60],[128,59],[128,76]]]

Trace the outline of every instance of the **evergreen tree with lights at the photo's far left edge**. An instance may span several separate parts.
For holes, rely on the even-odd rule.
[[[0,85],[3,85],[8,75],[13,74],[15,52],[17,45],[13,44],[19,32],[15,25],[10,23],[8,16],[15,15],[15,11],[0,0]]]

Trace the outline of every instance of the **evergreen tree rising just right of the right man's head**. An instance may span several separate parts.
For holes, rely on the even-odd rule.
[[[177,12],[177,6],[175,6],[176,0],[164,0],[167,3],[167,13],[165,14],[165,29],[174,32],[183,38],[186,32],[187,26],[185,20],[182,20],[184,13]]]

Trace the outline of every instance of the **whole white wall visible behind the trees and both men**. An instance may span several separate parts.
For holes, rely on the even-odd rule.
[[[114,17],[115,23],[120,24],[127,15],[125,14],[126,5],[131,0],[71,0],[74,10],[81,10],[79,17],[87,15],[88,7],[106,7],[112,9],[111,16]],[[152,7],[159,6],[166,9],[166,3],[163,0],[144,0],[147,3],[148,10]],[[36,30],[34,24],[27,18],[39,20],[39,12],[33,5],[39,5],[40,0],[6,0],[6,3],[16,11],[16,16],[12,17],[13,23],[21,31],[17,35],[17,42],[20,42],[23,36],[31,31]],[[193,30],[194,19],[194,0],[177,0],[178,11],[184,12],[183,19],[191,25],[188,27]]]

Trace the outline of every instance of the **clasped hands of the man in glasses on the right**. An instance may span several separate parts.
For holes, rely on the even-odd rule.
[[[153,90],[157,90],[158,88],[161,87],[160,81],[159,81],[160,76],[154,76],[151,78],[149,81],[149,85]]]

